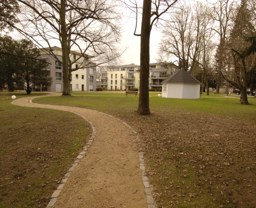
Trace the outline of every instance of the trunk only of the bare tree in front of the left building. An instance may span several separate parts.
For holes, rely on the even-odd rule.
[[[60,22],[61,22],[61,47],[62,47],[62,95],[70,95],[70,84],[68,79],[68,45],[66,31],[66,1],[61,0]]]

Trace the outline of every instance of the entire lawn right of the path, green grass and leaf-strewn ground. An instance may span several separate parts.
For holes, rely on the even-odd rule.
[[[183,100],[150,93],[152,114],[138,116],[135,96],[73,95],[80,96],[34,102],[95,109],[131,125],[158,207],[256,207],[255,98],[242,106],[223,95]]]

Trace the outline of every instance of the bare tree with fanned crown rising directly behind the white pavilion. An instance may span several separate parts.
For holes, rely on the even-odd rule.
[[[181,5],[170,15],[162,28],[162,39],[158,54],[172,62],[179,69],[188,71],[191,67],[192,11],[190,6]],[[177,60],[178,59],[178,60]]]

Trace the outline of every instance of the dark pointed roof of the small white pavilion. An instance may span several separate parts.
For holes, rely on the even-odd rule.
[[[201,84],[198,80],[195,79],[192,75],[186,72],[184,69],[180,69],[178,72],[172,74],[162,83],[191,83],[191,84]]]

